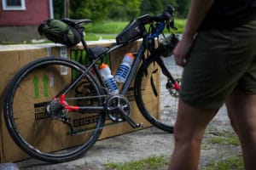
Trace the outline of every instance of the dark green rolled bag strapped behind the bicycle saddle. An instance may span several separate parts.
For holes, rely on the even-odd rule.
[[[49,41],[67,46],[74,46],[81,41],[80,32],[61,20],[44,20],[38,26],[38,33]]]

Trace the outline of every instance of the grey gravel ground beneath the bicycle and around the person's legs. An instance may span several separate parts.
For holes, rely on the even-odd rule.
[[[215,133],[232,131],[225,110],[218,112],[212,119],[208,129],[214,129]],[[206,133],[204,139],[211,136]],[[16,162],[20,169],[29,170],[103,170],[108,162],[136,161],[148,156],[171,156],[173,150],[173,135],[165,133],[155,127],[149,127],[132,133],[122,134],[109,139],[102,139],[78,160],[60,164],[47,164],[43,161],[28,159]],[[237,155],[241,149],[239,146],[228,144],[210,144],[207,150],[201,150],[200,169],[205,167],[208,161],[222,159],[226,156]],[[163,167],[166,169],[166,167]]]

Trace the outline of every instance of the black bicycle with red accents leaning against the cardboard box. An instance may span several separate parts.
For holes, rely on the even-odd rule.
[[[81,34],[86,59],[90,61],[90,64],[86,66],[72,59],[51,56],[36,59],[21,68],[9,82],[3,104],[4,120],[15,143],[29,156],[56,163],[73,160],[89,150],[102,133],[106,117],[113,122],[128,122],[133,128],[142,127],[143,123],[137,123],[131,119],[130,102],[125,97],[133,79],[135,80],[134,94],[137,106],[143,116],[155,127],[172,133],[176,113],[160,112],[161,117],[155,117],[157,114],[153,111],[160,109],[153,109],[164,97],[158,91],[159,83],[154,82],[159,81],[160,71],[166,81],[166,89],[161,90],[165,97],[168,97],[166,99],[170,102],[168,107],[176,106],[176,99],[178,98],[181,79],[172,77],[162,57],[160,57],[166,51],[172,52],[178,42],[178,36],[175,33],[171,34],[167,41],[168,49],[156,41],[160,34],[164,35],[165,28],[175,29],[173,20],[171,5],[157,16],[149,16],[148,14],[140,16],[137,20],[130,22],[124,30],[128,33],[139,30],[138,33],[112,48],[89,48],[84,40],[84,35]],[[63,19],[62,21],[74,28],[91,22],[87,19]],[[142,38],[143,42],[135,54],[136,58],[126,82],[122,85],[119,94],[110,93],[103,83],[98,65],[96,65],[97,61],[139,38]],[[49,80],[47,85],[52,90],[44,94],[44,102],[40,100],[38,103],[34,94],[25,89],[28,87],[27,82],[33,81],[35,75],[44,77],[45,74],[51,76],[52,82]],[[74,74],[75,77],[64,77],[63,74]],[[43,117],[40,117],[36,122],[34,120],[35,110],[44,113],[41,115]],[[86,122],[84,121],[86,128],[81,129],[72,122],[75,115],[86,116]],[[25,129],[21,126],[24,123],[26,123]],[[68,129],[67,133],[66,129]],[[32,136],[27,136],[27,132],[32,133]],[[52,152],[49,147],[46,147],[48,144],[36,138],[38,135],[44,135],[45,138],[58,141],[61,143],[60,145],[65,146],[66,140],[62,139],[61,133],[65,133],[67,138],[72,138],[73,144],[77,144],[77,146],[62,150],[56,144],[56,146],[50,146],[50,149],[56,150]]]

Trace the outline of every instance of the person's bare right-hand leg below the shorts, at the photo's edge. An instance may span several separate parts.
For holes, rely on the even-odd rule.
[[[256,95],[234,93],[226,101],[240,142],[246,169],[256,169]]]

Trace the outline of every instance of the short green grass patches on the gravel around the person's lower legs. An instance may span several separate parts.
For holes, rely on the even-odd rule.
[[[236,134],[232,131],[221,131],[213,133],[214,129],[208,129],[210,137],[202,144],[202,150],[214,147],[212,144],[219,145],[239,145]],[[139,161],[128,161],[125,163],[111,163],[105,165],[108,170],[163,170],[169,164],[169,156],[151,156]],[[201,170],[230,170],[244,169],[241,155],[221,157],[217,161],[209,161],[206,167]]]

